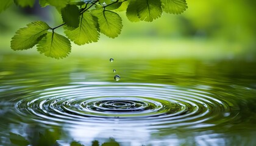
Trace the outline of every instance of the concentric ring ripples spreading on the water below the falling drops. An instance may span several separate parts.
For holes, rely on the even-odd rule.
[[[72,83],[29,94],[15,107],[21,116],[51,125],[198,128],[234,120],[236,103],[207,91],[147,83]]]

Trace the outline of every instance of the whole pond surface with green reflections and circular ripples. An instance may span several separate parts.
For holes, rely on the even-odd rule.
[[[109,59],[2,56],[0,145],[256,145],[255,62]]]

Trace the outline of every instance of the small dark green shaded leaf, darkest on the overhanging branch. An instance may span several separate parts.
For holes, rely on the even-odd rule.
[[[62,9],[62,19],[67,26],[78,27],[79,16],[79,8],[76,5],[66,5],[66,7]]]

